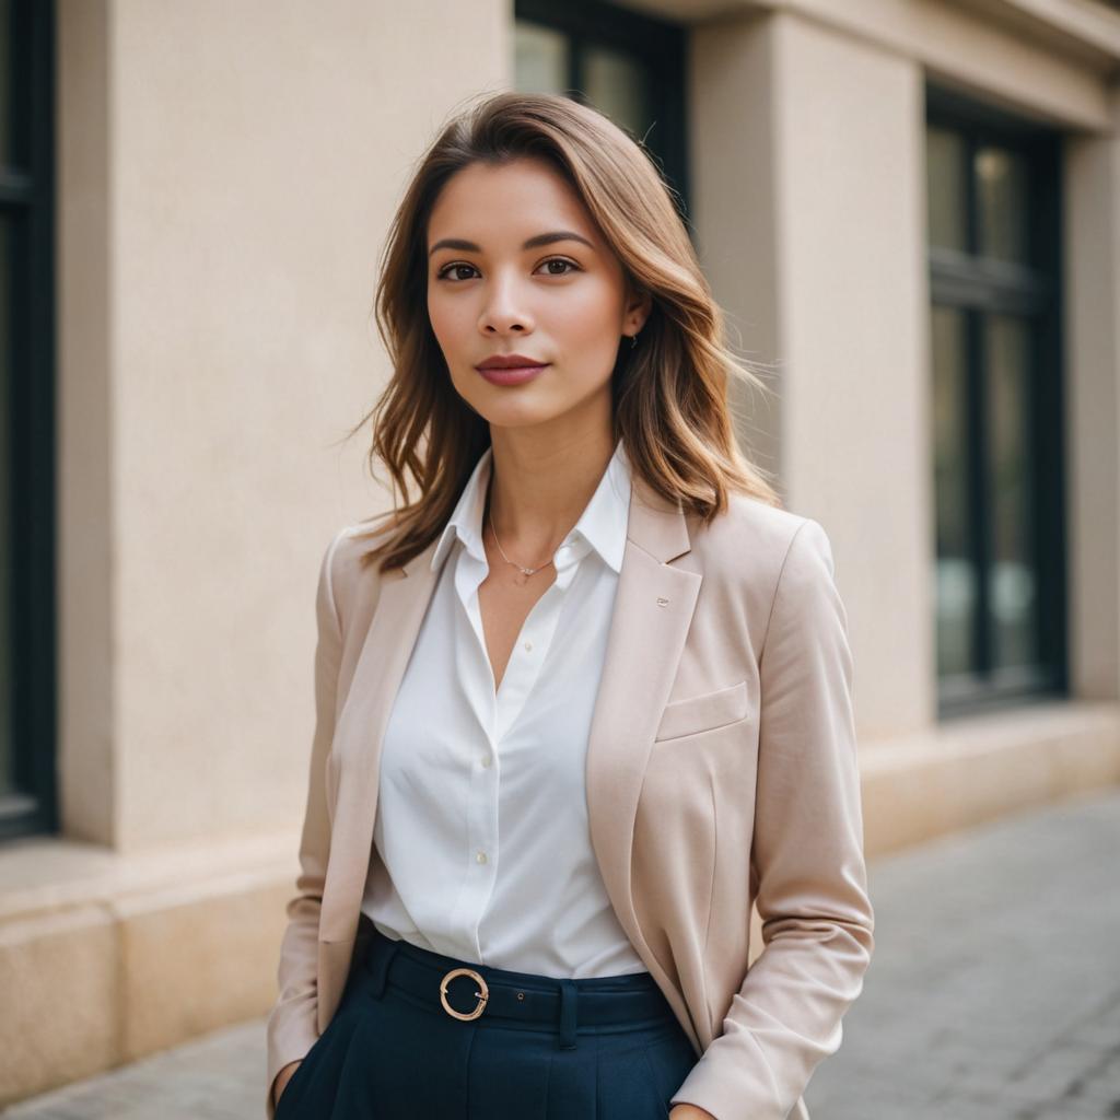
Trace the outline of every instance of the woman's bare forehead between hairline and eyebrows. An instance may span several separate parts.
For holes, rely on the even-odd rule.
[[[444,185],[428,221],[428,244],[441,237],[520,244],[552,228],[600,242],[579,195],[543,160],[470,164]]]

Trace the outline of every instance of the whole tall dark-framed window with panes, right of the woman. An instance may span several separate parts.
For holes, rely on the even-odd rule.
[[[1058,138],[930,91],[943,715],[1066,688]]]

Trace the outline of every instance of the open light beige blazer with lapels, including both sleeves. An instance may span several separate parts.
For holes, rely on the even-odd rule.
[[[296,895],[268,1021],[279,1070],[326,1028],[360,913],[382,736],[436,587],[435,541],[361,570],[343,530],[317,594],[316,727]],[[623,928],[697,1053],[718,1120],[805,1120],[872,950],[847,617],[813,520],[734,496],[709,526],[635,475],[587,748],[592,847]],[[752,904],[764,950],[748,971]],[[573,1118],[576,1120],[576,1118]]]

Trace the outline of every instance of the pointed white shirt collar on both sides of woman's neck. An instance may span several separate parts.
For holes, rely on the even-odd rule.
[[[475,464],[467,485],[459,495],[450,519],[444,526],[439,543],[431,558],[432,570],[444,561],[456,538],[463,541],[467,551],[476,560],[486,562],[486,549],[483,545],[482,520],[486,503],[486,487],[489,484],[494,449],[487,447]],[[554,557],[558,567],[562,564],[560,556],[578,560],[587,548],[580,548],[584,541],[592,548],[614,571],[622,571],[623,554],[626,551],[626,526],[629,517],[631,501],[631,465],[619,440],[614,455],[607,464],[607,469],[599,479],[591,500],[587,503],[579,521],[560,542]],[[561,550],[567,552],[561,553]]]

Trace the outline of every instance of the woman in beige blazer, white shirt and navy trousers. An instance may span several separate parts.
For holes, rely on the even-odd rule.
[[[804,1118],[872,949],[847,623],[672,199],[503,93],[383,265],[401,501],[323,558],[269,1117]]]

